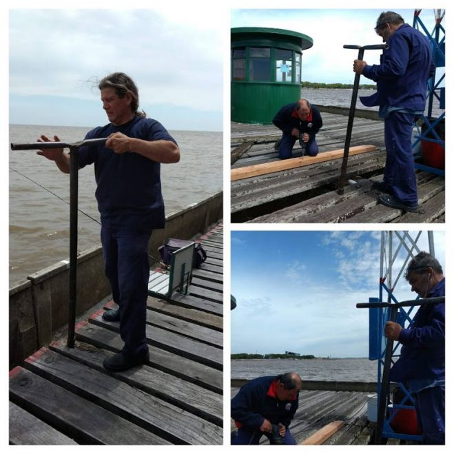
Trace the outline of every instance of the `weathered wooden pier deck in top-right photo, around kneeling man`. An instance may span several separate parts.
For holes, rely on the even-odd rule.
[[[317,134],[320,154],[343,149],[348,117],[322,113]],[[385,162],[382,121],[355,118],[351,146],[374,145],[377,151],[349,157],[347,178],[356,184],[336,191],[342,158],[231,182],[234,223],[436,223],[444,222],[444,178],[417,171],[420,210],[417,214],[379,205],[371,182],[382,179]],[[278,161],[274,125],[231,124],[232,169]],[[300,156],[298,143],[293,157]]]

